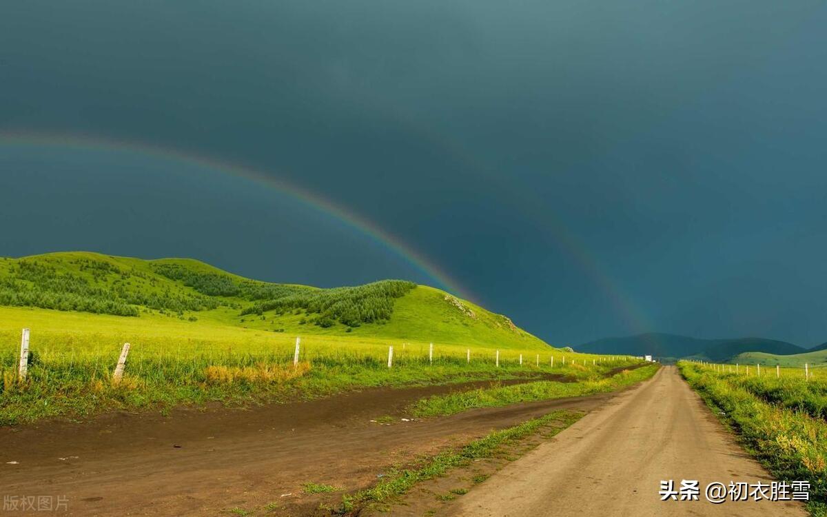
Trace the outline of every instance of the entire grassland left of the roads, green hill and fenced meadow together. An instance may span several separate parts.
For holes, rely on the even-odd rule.
[[[4,425],[112,409],[243,405],[365,386],[540,376],[552,371],[552,356],[555,373],[576,378],[624,364],[577,369],[571,361],[583,365],[596,357],[549,347],[508,318],[427,286],[317,290],[247,280],[198,261],[90,253],[0,260],[0,281],[18,305],[0,306]],[[264,310],[267,301],[275,308]],[[88,310],[44,307],[55,304]],[[16,370],[21,328],[31,329],[25,382],[17,381]],[[114,384],[124,342],[131,343],[126,375]]]

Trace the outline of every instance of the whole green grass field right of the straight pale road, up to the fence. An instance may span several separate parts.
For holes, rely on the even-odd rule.
[[[810,481],[812,515],[827,515],[827,376],[803,371],[678,363],[707,404],[732,424],[747,450],[783,481]]]

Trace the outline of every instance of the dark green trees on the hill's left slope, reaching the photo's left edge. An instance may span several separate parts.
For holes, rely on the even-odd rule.
[[[121,270],[102,261],[73,261],[82,274],[60,272],[35,260],[12,264],[0,277],[0,305],[78,310],[95,314],[138,316],[140,307],[182,315],[185,310],[215,309],[218,301],[206,296],[152,290],[155,280],[141,271]],[[132,280],[146,280],[150,289],[138,289]]]

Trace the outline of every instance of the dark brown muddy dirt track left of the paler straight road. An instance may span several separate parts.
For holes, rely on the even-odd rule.
[[[420,397],[482,384],[489,383],[364,390],[250,410],[112,414],[87,424],[0,428],[0,495],[45,495],[53,503],[65,497],[60,515],[84,517],[232,515],[233,508],[256,515],[310,515],[324,495],[304,494],[301,486],[308,481],[357,490],[374,484],[395,462],[553,409],[595,409],[615,396],[399,420],[404,407]],[[385,415],[396,415],[397,423],[370,422]],[[327,497],[339,500],[341,493]]]

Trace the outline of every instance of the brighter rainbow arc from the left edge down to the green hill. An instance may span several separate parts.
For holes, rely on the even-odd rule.
[[[436,280],[439,284],[438,287],[448,290],[452,294],[457,294],[464,299],[475,301],[467,290],[461,288],[455,280],[452,280],[451,277],[442,271],[439,266],[434,264],[433,261],[428,260],[428,258],[418,253],[418,251],[414,251],[409,245],[400,241],[399,238],[390,235],[390,233],[385,232],[385,230],[381,229],[375,223],[346,208],[342,208],[320,194],[310,192],[287,181],[276,179],[266,174],[263,170],[254,169],[246,165],[232,164],[213,157],[200,156],[168,147],[156,146],[146,142],[116,140],[100,136],[44,132],[0,132],[0,145],[56,146],[73,149],[134,152],[139,155],[155,156],[166,160],[178,160],[191,165],[198,165],[208,170],[240,176],[258,184],[265,184],[281,194],[287,194],[294,199],[298,199],[305,205],[327,213],[332,218],[366,234],[383,247],[394,251],[396,255],[408,262],[409,265],[414,266],[414,269],[427,275],[428,278]]]

